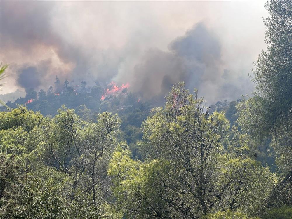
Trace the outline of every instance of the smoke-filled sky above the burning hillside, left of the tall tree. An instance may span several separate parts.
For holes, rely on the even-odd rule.
[[[142,98],[185,81],[208,102],[253,90],[265,1],[1,1],[4,92],[61,80],[129,83]]]

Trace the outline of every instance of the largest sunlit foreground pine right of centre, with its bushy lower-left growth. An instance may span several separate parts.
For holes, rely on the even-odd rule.
[[[143,122],[144,162],[124,144],[114,152],[108,174],[126,218],[199,218],[220,209],[254,215],[275,184],[267,168],[235,152],[224,114],[209,114],[195,94],[175,85],[165,108]]]

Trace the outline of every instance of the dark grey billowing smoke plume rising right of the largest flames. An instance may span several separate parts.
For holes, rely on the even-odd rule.
[[[147,51],[143,61],[135,66],[133,88],[142,96],[164,96],[180,81],[185,81],[190,89],[204,89],[202,83],[216,83],[220,78],[221,44],[203,23],[172,41],[168,48],[168,52]]]

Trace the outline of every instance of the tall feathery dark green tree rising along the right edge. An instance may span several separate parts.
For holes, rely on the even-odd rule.
[[[255,62],[256,96],[246,103],[244,111],[248,113],[246,124],[253,127],[249,131],[258,136],[292,127],[292,3],[271,0],[266,8],[270,14],[265,20],[267,51]]]

